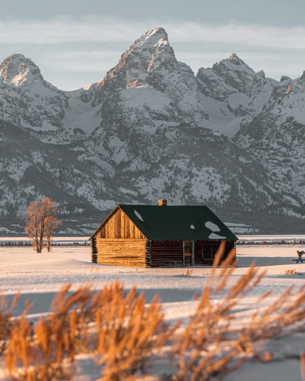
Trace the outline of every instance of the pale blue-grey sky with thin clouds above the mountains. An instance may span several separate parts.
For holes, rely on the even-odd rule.
[[[305,70],[304,0],[27,0],[3,2],[0,60],[32,58],[46,80],[72,90],[103,78],[146,30],[163,26],[195,74],[235,52],[267,76]]]

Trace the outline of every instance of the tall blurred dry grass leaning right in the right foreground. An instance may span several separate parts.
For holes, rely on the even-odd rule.
[[[222,250],[217,253],[209,281],[203,290],[197,310],[190,317],[188,325],[173,338],[172,357],[176,365],[173,381],[205,381],[211,376],[222,375],[236,369],[248,358],[257,357],[263,361],[272,354],[261,354],[256,343],[271,339],[290,329],[290,333],[304,330],[299,324],[305,319],[302,300],[305,291],[291,297],[291,289],[282,294],[271,306],[255,312],[246,327],[237,329],[234,308],[240,300],[260,282],[264,276],[252,265],[247,273],[225,290],[228,277],[234,271],[228,265],[235,253],[221,262]],[[221,303],[215,297],[223,293]],[[269,293],[259,298],[260,305]]]

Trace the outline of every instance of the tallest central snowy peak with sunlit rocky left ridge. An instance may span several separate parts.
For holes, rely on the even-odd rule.
[[[98,92],[94,105],[105,99],[105,91],[109,97],[109,92],[113,94],[114,89],[127,89],[131,96],[135,89],[148,87],[167,93],[176,104],[181,101],[190,115],[198,114],[200,119],[206,117],[198,98],[193,71],[186,64],[177,61],[167,33],[160,27],[146,31],[137,39],[121,55],[117,65],[95,85]],[[142,96],[139,95],[139,98],[143,102]],[[190,120],[193,118],[192,116]]]

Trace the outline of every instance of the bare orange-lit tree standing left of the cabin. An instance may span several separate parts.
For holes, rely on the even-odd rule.
[[[54,225],[51,221],[56,220],[60,222],[54,216],[55,212],[55,203],[49,197],[46,197],[41,201],[35,201],[27,207],[25,216],[25,233],[28,234],[28,237],[33,240],[33,245],[37,252],[42,251],[44,238],[46,236],[46,231],[48,230],[48,224],[50,224],[49,230],[52,234],[56,228],[51,229],[51,226]]]

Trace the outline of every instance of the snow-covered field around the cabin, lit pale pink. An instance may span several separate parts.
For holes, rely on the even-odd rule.
[[[275,296],[291,285],[295,288],[305,287],[305,263],[292,262],[292,259],[297,258],[296,250],[305,250],[305,246],[237,246],[237,268],[230,276],[228,285],[234,284],[238,276],[245,274],[252,261],[256,261],[257,266],[267,270],[267,274],[255,290],[243,299],[240,305],[241,320],[255,310],[256,305],[252,302],[267,290],[272,290],[272,296],[264,301],[266,304],[271,303]],[[285,274],[285,270],[294,268],[299,274]],[[123,282],[127,290],[133,285],[136,285],[138,290],[143,290],[147,302],[158,293],[166,320],[186,319],[196,306],[192,297],[195,292],[200,293],[210,271],[208,267],[195,267],[193,274],[186,276],[186,269],[180,268],[136,269],[92,264],[88,246],[57,246],[53,247],[52,252],[43,251],[41,254],[37,254],[31,247],[0,247],[0,293],[12,299],[20,290],[22,296],[14,314],[18,315],[23,310],[25,301],[30,299],[34,303],[30,311],[33,320],[37,320],[41,314],[48,311],[54,294],[64,283],[72,282],[74,289],[86,282],[93,284],[95,288],[101,288],[115,279]],[[216,301],[217,299],[221,300],[221,295],[216,296]],[[277,361],[268,364],[248,362],[224,379],[299,381],[297,357],[300,351],[305,352],[305,335],[282,337],[268,345],[276,351]],[[82,366],[82,376],[75,375],[75,380],[97,378],[94,374],[89,374],[92,373],[92,366],[88,367],[88,373],[84,371],[84,367],[85,365]],[[3,379],[0,376],[0,380]]]

